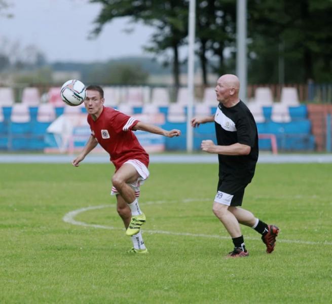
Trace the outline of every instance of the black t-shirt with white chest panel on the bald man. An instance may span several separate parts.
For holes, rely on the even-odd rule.
[[[214,116],[218,145],[242,143],[251,147],[244,156],[218,155],[219,179],[229,178],[249,183],[258,159],[258,134],[255,120],[248,107],[240,100],[235,106],[219,103]]]

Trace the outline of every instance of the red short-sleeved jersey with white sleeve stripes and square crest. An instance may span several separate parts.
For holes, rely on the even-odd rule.
[[[107,151],[118,170],[128,160],[139,160],[149,166],[149,155],[140,145],[132,128],[139,121],[113,108],[103,107],[96,121],[88,115],[92,135]]]

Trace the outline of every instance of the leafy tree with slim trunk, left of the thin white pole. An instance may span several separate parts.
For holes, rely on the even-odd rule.
[[[156,29],[151,44],[146,50],[155,54],[165,54],[172,50],[172,72],[175,87],[179,87],[180,62],[178,48],[187,36],[188,0],[90,0],[100,3],[102,10],[95,20],[93,33],[98,34],[102,27],[115,18],[130,17],[132,22],[143,22]]]

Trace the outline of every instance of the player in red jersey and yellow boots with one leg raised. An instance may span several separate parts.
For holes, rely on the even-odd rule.
[[[116,109],[105,107],[104,92],[100,86],[88,86],[84,105],[88,111],[91,135],[82,152],[72,161],[78,167],[80,162],[99,143],[109,154],[116,171],[112,177],[112,195],[117,197],[117,211],[122,218],[126,235],[131,236],[132,253],[147,253],[140,227],[145,215],[138,204],[139,186],[149,177],[149,155],[138,142],[132,131],[142,130],[167,137],[179,136],[179,130],[166,131],[125,115]]]

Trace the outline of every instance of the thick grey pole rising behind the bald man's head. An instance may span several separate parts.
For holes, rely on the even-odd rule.
[[[240,81],[240,99],[247,102],[247,0],[237,0],[236,19],[236,73]]]

